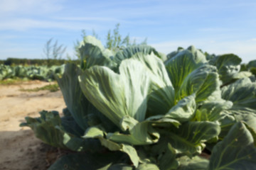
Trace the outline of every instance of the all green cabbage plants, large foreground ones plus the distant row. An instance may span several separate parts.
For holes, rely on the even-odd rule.
[[[148,45],[114,52],[92,36],[80,57],[79,66],[50,72],[0,69],[0,79],[58,81],[63,116],[41,111],[21,123],[70,150],[50,170],[256,169],[256,60],[241,64],[193,46],[168,55]]]

